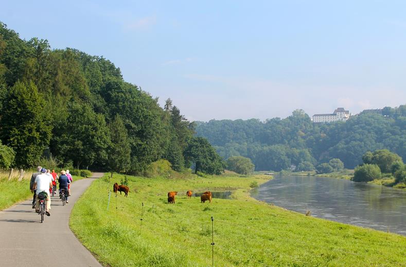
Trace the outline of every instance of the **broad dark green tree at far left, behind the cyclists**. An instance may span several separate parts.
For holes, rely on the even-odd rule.
[[[15,151],[15,165],[32,166],[49,146],[52,130],[37,86],[16,82],[6,94],[1,113],[0,138]]]

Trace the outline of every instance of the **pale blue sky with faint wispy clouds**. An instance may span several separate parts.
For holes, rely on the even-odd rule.
[[[22,39],[103,56],[189,120],[406,104],[405,1],[0,1]]]

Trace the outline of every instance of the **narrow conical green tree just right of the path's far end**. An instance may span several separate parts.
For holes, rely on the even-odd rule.
[[[131,147],[127,129],[119,115],[109,124],[110,147],[108,149],[108,164],[110,170],[126,171],[130,165]]]

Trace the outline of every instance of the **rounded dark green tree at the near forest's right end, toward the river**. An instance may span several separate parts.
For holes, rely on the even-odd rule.
[[[221,174],[224,171],[225,163],[223,159],[205,138],[190,138],[184,156],[189,166],[192,163],[195,164],[196,173]]]

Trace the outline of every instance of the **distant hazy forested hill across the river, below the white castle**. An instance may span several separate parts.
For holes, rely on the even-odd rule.
[[[406,105],[383,111],[383,115],[361,113],[346,122],[313,124],[303,110],[296,110],[285,119],[264,122],[197,122],[196,132],[225,159],[236,155],[251,158],[256,170],[279,171],[302,162],[315,166],[331,158],[354,168],[365,152],[376,149],[386,148],[406,159]]]

